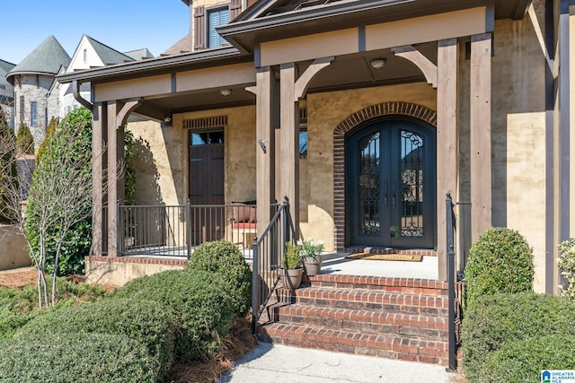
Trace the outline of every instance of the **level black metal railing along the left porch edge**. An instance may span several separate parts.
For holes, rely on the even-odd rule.
[[[277,209],[277,204],[271,205]],[[108,207],[102,209],[102,254],[108,253]],[[201,243],[225,239],[252,257],[256,206],[116,205],[118,256],[188,257]]]

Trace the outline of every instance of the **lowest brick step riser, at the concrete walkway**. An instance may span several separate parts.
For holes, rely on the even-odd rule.
[[[270,334],[264,331],[259,337],[261,341],[272,344],[286,344],[340,353],[369,355],[402,361],[420,361],[442,366],[447,366],[448,362],[447,344],[443,342],[437,342],[428,347],[420,347],[417,345],[417,340],[405,338],[394,338],[393,342],[381,343],[332,336],[327,341],[320,341],[313,336],[306,337],[303,335],[302,338],[286,337],[276,335],[273,331]]]

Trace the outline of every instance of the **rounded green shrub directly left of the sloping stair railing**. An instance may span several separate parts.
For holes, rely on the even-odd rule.
[[[252,272],[237,246],[224,240],[203,243],[194,250],[186,268],[220,274],[235,313],[240,317],[247,314],[252,304]]]

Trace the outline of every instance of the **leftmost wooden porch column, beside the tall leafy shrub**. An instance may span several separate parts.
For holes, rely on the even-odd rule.
[[[106,127],[105,116],[102,115],[102,102],[93,108],[92,127],[92,256],[102,256],[102,206],[103,206],[103,135]],[[107,217],[106,217],[107,219]],[[107,234],[106,234],[107,235]]]

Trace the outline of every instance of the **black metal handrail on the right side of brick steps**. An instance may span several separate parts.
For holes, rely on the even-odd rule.
[[[459,207],[459,224],[457,222],[456,207]],[[471,216],[471,203],[454,203],[451,195],[446,198],[446,222],[447,222],[447,285],[449,294],[449,366],[447,370],[456,370],[457,350],[461,346],[461,322],[463,320],[464,299],[464,267],[469,253],[469,241],[467,239],[465,222]],[[457,228],[459,227],[459,232]],[[457,241],[461,243],[456,248]],[[459,253],[456,262],[456,253]]]

